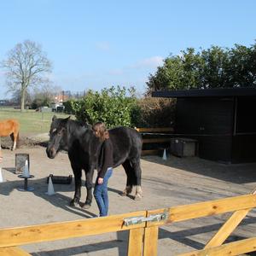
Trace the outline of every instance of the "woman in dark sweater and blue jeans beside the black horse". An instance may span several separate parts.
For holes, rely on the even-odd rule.
[[[109,139],[109,133],[102,122],[92,127],[96,137],[102,142],[98,155],[98,175],[96,178],[94,197],[100,211],[100,217],[108,215],[108,179],[113,172],[113,145]]]

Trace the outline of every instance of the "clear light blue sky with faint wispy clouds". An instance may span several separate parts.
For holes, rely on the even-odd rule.
[[[143,94],[169,55],[255,44],[255,10],[254,0],[0,1],[0,61],[28,39],[42,46],[62,90],[120,85]],[[0,88],[9,98],[3,69]]]

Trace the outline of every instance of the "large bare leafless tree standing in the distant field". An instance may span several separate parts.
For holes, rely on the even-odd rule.
[[[20,110],[24,110],[28,87],[44,84],[45,74],[51,72],[51,63],[39,44],[26,40],[16,44],[1,66],[6,70],[9,91],[20,90]]]

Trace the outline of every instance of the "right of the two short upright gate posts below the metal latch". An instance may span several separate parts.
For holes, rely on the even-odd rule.
[[[143,256],[156,256],[159,228],[149,227],[145,229]]]

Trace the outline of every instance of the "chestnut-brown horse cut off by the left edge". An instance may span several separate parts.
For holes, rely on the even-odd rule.
[[[0,137],[10,136],[13,141],[12,150],[15,150],[19,141],[20,123],[16,119],[0,121]],[[1,138],[0,138],[1,139]],[[1,141],[0,141],[1,142]],[[1,143],[0,143],[1,148]]]

